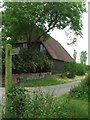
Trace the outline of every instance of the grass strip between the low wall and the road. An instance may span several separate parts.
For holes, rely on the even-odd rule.
[[[62,78],[60,74],[55,74],[37,80],[23,81],[20,83],[20,85],[24,87],[51,86],[82,80],[84,77],[85,76],[76,76],[73,79],[69,79],[67,77]]]

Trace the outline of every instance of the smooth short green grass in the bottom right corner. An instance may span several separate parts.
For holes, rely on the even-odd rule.
[[[63,108],[66,118],[88,118],[88,101],[60,96],[60,101],[67,100]],[[61,98],[62,97],[62,98]]]

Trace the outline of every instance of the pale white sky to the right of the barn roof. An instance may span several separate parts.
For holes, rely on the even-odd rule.
[[[87,7],[87,13],[84,13],[82,16],[82,21],[83,21],[83,29],[82,29],[83,38],[77,39],[77,46],[67,45],[68,40],[64,30],[54,29],[50,33],[51,37],[57,40],[72,57],[73,57],[74,50],[77,51],[77,62],[80,62],[81,51],[87,51],[88,53],[88,7]],[[88,64],[88,59],[86,64]]]

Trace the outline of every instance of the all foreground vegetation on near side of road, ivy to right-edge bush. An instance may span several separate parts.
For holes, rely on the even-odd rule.
[[[13,87],[8,92],[9,110],[13,118],[88,118],[88,80],[82,82],[63,96],[53,96],[42,91],[27,92]],[[18,115],[19,114],[19,115]],[[4,117],[4,114],[3,114]]]

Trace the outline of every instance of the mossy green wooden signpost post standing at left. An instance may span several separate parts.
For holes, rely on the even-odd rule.
[[[7,44],[5,52],[5,114],[8,115],[7,92],[12,87],[12,45]]]

